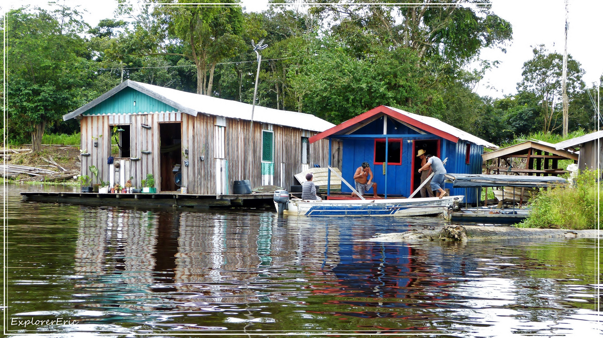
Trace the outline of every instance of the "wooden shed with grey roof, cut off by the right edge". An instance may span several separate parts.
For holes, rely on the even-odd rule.
[[[557,149],[575,150],[579,149],[578,169],[579,170],[603,170],[603,130],[598,132],[568,139],[567,141],[555,144]]]

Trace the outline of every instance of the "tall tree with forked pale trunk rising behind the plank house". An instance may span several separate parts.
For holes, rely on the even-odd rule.
[[[245,47],[238,1],[157,0],[151,14],[142,13],[135,22],[134,35],[146,43],[145,48],[133,45],[133,51],[186,57],[197,69],[197,94],[212,95],[216,65]],[[181,46],[180,53],[170,53],[171,45]]]

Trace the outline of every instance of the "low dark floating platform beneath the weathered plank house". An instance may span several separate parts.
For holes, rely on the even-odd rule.
[[[66,203],[89,206],[128,206],[134,208],[208,208],[241,206],[274,208],[273,193],[245,195],[195,195],[178,193],[99,194],[99,193],[21,193],[24,202]]]

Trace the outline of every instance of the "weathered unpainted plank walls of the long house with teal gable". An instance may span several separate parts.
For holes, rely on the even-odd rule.
[[[172,117],[172,116],[170,116]],[[216,117],[204,114],[191,116],[181,114],[182,118],[182,150],[188,149],[189,166],[182,166],[183,187],[188,188],[189,194],[215,194],[216,193],[216,158],[215,158],[215,124]],[[140,180],[152,173],[155,177],[155,187],[160,191],[160,120],[166,120],[165,115],[131,114],[130,137],[131,157],[138,157],[140,161],[130,162],[129,173],[124,173],[125,179],[133,176],[132,184],[140,188]],[[169,120],[173,120],[170,118]],[[176,121],[174,121],[176,122]],[[167,123],[161,122],[161,123]],[[147,124],[151,129],[140,126]],[[233,181],[248,179],[252,187],[262,183],[260,164],[262,159],[262,130],[267,126],[262,123],[253,124],[253,134],[249,137],[250,121],[226,119],[226,158],[228,159],[228,189],[233,191]],[[87,168],[96,165],[99,168],[99,177],[109,181],[109,165],[107,158],[110,156],[110,124],[109,116],[96,115],[84,116],[81,120],[82,149],[86,149],[90,156],[83,159],[82,173],[90,176]],[[284,188],[297,185],[294,174],[301,171],[301,136],[312,136],[315,132],[292,127],[273,126],[274,131],[274,182],[279,184],[281,176]],[[93,147],[92,135],[103,135],[98,140],[98,148]],[[151,153],[143,154],[142,150]],[[318,164],[326,167],[328,164],[329,141],[326,139],[310,145],[310,165]],[[204,161],[200,156],[204,156]],[[184,155],[183,155],[184,156]],[[284,172],[281,170],[284,163]],[[125,169],[125,168],[124,168]]]

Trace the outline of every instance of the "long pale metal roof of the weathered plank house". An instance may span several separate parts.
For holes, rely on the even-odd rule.
[[[251,121],[251,104],[177,91],[176,89],[154,86],[153,84],[131,80],[124,81],[124,83],[121,83],[116,88],[113,88],[111,91],[96,98],[96,100],[74,110],[74,112],[66,114],[63,116],[63,120],[69,120],[70,118],[74,118],[75,116],[86,112],[86,110],[96,106],[96,104],[101,103],[126,86],[156,98],[189,115],[196,116],[197,113],[204,113],[207,115],[217,115]],[[311,114],[291,112],[289,110],[277,110],[261,106],[255,107],[253,121],[295,127],[311,130],[313,132],[323,132],[324,130],[335,126],[335,124]]]

